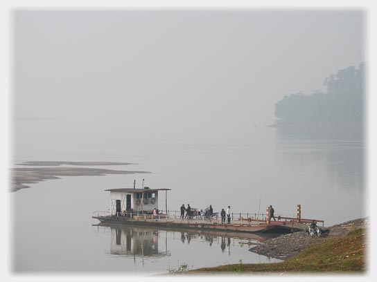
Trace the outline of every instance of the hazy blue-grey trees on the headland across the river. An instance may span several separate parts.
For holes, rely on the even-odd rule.
[[[325,93],[293,93],[275,104],[275,127],[285,133],[363,138],[365,64],[324,80]]]

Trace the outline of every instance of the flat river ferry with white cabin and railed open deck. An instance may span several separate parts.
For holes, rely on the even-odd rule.
[[[301,205],[297,205],[297,217],[275,216],[277,220],[270,220],[270,207],[265,214],[231,213],[229,223],[221,223],[220,218],[198,217],[196,214],[180,216],[177,211],[168,211],[167,192],[170,189],[121,188],[107,189],[110,191],[109,212],[97,211],[92,216],[107,225],[139,225],[144,227],[172,227],[203,229],[206,231],[245,232],[245,233],[289,233],[305,230],[313,219],[301,218]],[[165,212],[159,211],[159,191],[165,191]],[[152,212],[157,209],[157,216]],[[275,219],[275,218],[274,218]],[[324,223],[323,220],[316,220]]]

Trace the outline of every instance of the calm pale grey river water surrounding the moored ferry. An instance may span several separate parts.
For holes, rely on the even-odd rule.
[[[271,263],[249,252],[250,238],[190,231],[96,226],[91,218],[109,209],[105,189],[170,188],[168,209],[182,203],[214,211],[323,219],[326,226],[366,215],[364,147],[354,140],[286,138],[258,127],[252,140],[218,142],[115,142],[71,151],[18,151],[13,163],[30,160],[133,162],[101,168],[152,173],[72,176],[32,184],[10,194],[12,268],[16,272],[164,273],[228,263]],[[165,203],[164,196],[160,201]],[[161,205],[161,203],[160,203]],[[163,204],[164,206],[164,204]],[[164,209],[164,207],[160,207]]]

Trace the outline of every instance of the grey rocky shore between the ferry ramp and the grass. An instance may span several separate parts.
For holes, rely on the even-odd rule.
[[[304,236],[305,232],[284,234],[276,238],[270,238],[260,245],[250,248],[249,251],[274,259],[286,260],[291,256],[299,254],[310,245],[322,242],[328,238],[346,236],[354,229],[366,227],[368,223],[368,218],[359,218],[347,221],[346,223],[333,225],[332,227],[329,227],[330,234],[328,237],[311,238],[310,236]]]

